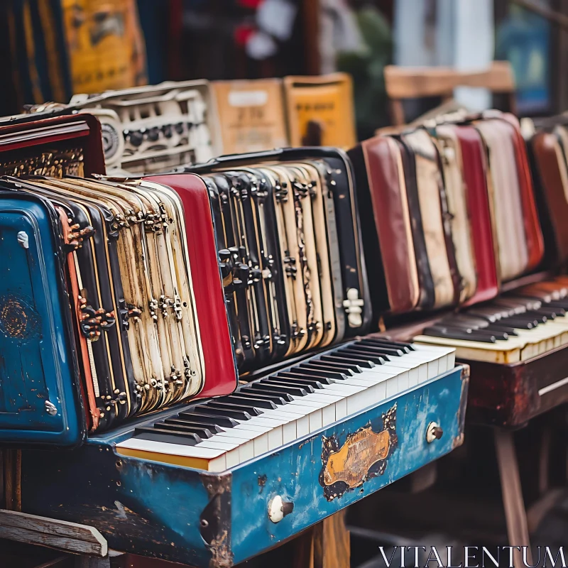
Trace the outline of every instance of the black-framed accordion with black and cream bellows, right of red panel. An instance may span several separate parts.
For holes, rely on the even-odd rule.
[[[239,370],[366,332],[371,302],[342,151],[288,148],[191,169],[209,187]]]

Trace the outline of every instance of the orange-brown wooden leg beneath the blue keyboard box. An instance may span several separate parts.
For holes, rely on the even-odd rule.
[[[297,537],[294,566],[349,568],[351,549],[345,514],[345,509],[340,510]]]

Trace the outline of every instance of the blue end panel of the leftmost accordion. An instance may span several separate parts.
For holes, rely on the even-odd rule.
[[[42,200],[0,187],[2,443],[72,446],[83,437],[55,222],[55,210]],[[46,412],[46,400],[55,415]]]

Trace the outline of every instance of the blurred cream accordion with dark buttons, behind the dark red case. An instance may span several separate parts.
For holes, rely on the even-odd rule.
[[[205,80],[76,94],[67,105],[50,103],[32,110],[97,116],[109,172],[163,172],[221,153],[214,94]]]

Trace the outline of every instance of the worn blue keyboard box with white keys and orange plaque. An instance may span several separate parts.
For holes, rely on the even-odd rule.
[[[116,550],[238,564],[458,447],[469,376],[453,358],[369,336],[57,460],[23,450],[23,510],[93,525]]]

